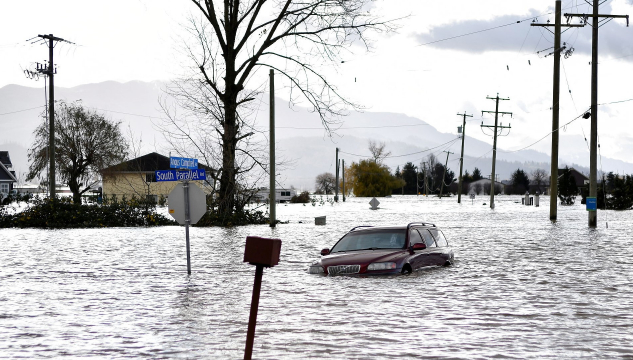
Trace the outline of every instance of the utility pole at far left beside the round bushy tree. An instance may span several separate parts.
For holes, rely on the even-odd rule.
[[[49,155],[49,172],[48,172],[48,188],[49,188],[49,197],[55,197],[55,81],[54,75],[57,74],[57,69],[55,67],[55,63],[53,61],[53,50],[55,48],[56,41],[63,41],[69,44],[73,44],[70,41],[64,40],[60,37],[53,36],[53,34],[48,35],[37,35],[34,38],[31,38],[27,41],[31,41],[35,38],[40,38],[41,40],[36,40],[33,43],[44,41],[44,43],[48,43],[48,65],[42,65],[38,63],[37,72],[40,74],[44,74],[48,76],[48,155]],[[48,40],[48,41],[46,41]]]

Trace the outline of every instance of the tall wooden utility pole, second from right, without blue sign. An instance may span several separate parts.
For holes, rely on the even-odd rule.
[[[558,144],[559,144],[559,112],[560,112],[560,54],[565,50],[561,47],[561,27],[583,27],[584,24],[561,24],[561,0],[556,0],[556,20],[554,24],[538,24],[533,22],[531,26],[554,27],[554,91],[552,100],[552,158],[550,161],[550,200],[549,218],[556,221],[558,212]],[[547,29],[549,30],[549,29]],[[551,31],[551,30],[550,30]]]

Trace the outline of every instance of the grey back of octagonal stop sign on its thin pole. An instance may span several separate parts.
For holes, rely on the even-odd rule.
[[[187,273],[191,274],[191,258],[189,253],[189,224],[197,223],[207,212],[207,197],[196,184],[185,180],[169,193],[169,215],[179,224],[185,225],[187,244]]]

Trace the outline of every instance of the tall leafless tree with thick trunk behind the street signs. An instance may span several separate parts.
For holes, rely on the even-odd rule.
[[[267,67],[281,74],[290,84],[291,102],[306,99],[329,131],[338,116],[357,105],[338,93],[319,66],[340,63],[353,42],[368,48],[368,30],[392,27],[371,15],[370,0],[191,2],[201,15],[192,16],[188,27],[195,44],[185,45],[192,73],[169,91],[186,113],[165,108],[171,110],[170,135],[180,135],[175,142],[196,140],[195,131],[208,135],[195,144],[196,152],[217,164],[218,209],[230,215],[241,206],[238,181],[255,182],[251,171],[267,168],[266,142],[251,140],[258,130],[247,114],[261,91],[248,83],[255,70]]]

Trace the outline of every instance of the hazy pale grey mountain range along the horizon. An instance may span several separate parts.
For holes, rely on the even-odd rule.
[[[157,120],[165,117],[159,106],[159,99],[166,98],[164,87],[161,82],[108,81],[72,88],[56,87],[55,98],[67,101],[81,99],[84,106],[113,120],[120,120],[126,135],[142,139],[141,153],[157,151],[167,155],[172,149],[156,126]],[[267,94],[264,95],[256,100],[259,102],[258,110],[251,116],[254,116],[256,128],[265,131],[268,129],[268,105]],[[336,148],[339,148],[339,157],[345,160],[347,166],[370,157],[370,140],[385,143],[391,155],[384,163],[392,171],[396,167],[402,168],[407,162],[422,170],[421,162],[430,153],[444,163],[447,154],[443,151],[450,151],[448,167],[456,174],[459,172],[461,139],[457,131],[442,133],[429,123],[404,114],[352,111],[342,117],[340,123],[333,125],[334,131],[329,134],[315,113],[301,106],[292,106],[280,98],[276,98],[275,102],[276,151],[278,157],[288,163],[280,167],[278,182],[283,186],[313,189],[318,174],[334,173]],[[33,141],[33,131],[43,121],[44,104],[43,87],[8,85],[0,88],[0,150],[10,152],[18,177],[23,178],[28,171],[27,149]],[[471,121],[466,126],[464,169],[472,173],[477,167],[482,174],[488,175],[491,172],[492,145],[468,136],[469,131],[475,131],[478,125]],[[519,168],[528,173],[541,168],[549,173],[548,154],[531,149],[504,151],[504,144],[508,143],[512,144],[512,137],[501,137],[499,140],[496,164],[499,179],[509,179],[511,173]],[[568,136],[565,143],[578,146],[584,144],[584,140]],[[588,174],[588,156],[586,159],[578,156],[565,158],[564,153],[561,150],[560,167],[569,165]],[[601,160],[605,172],[633,173],[631,163],[606,157]]]

